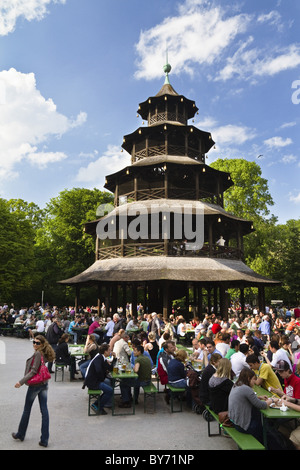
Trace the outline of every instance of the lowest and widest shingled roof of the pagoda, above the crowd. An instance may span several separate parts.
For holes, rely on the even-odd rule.
[[[242,261],[216,258],[182,258],[151,256],[145,258],[114,258],[96,261],[81,274],[59,281],[65,285],[91,282],[184,281],[222,284],[228,287],[274,286],[279,281],[255,273]]]

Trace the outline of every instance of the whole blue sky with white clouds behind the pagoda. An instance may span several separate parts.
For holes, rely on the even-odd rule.
[[[0,197],[44,208],[103,189],[172,66],[218,158],[257,162],[284,224],[300,214],[300,2],[0,0]]]

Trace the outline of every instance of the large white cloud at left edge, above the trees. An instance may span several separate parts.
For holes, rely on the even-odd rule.
[[[53,100],[36,88],[33,73],[4,70],[0,83],[5,88],[0,104],[0,177],[16,176],[17,165],[24,160],[45,167],[66,158],[63,152],[43,152],[38,146],[82,125],[86,114],[71,120],[59,113]]]

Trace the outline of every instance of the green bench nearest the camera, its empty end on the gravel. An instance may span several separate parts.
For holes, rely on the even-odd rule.
[[[218,423],[218,433],[212,434],[210,429],[211,421],[207,419],[207,429],[208,429],[208,436],[219,436],[221,435],[221,428],[223,429],[224,433],[230,436],[234,442],[237,444],[240,450],[265,450],[263,444],[261,444],[254,436],[251,434],[246,434],[238,431],[235,428],[229,428],[227,426],[222,426],[219,421],[219,417],[216,413],[214,413],[208,405],[205,405],[206,410],[208,413],[213,417],[213,419]]]

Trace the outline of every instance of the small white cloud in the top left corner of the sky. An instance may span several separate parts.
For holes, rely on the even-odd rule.
[[[17,20],[41,20],[48,13],[51,3],[66,3],[66,0],[1,0],[0,2],[0,36],[14,31]]]

